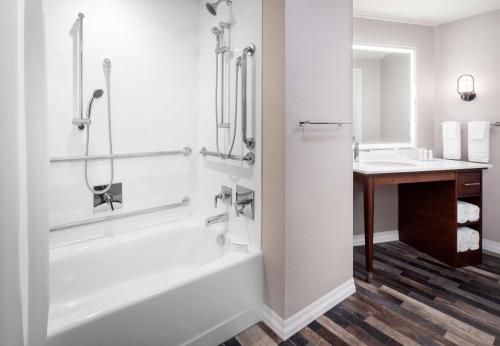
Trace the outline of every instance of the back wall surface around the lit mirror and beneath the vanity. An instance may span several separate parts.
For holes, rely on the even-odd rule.
[[[434,138],[434,30],[432,27],[354,18],[354,42],[416,47],[417,145],[431,148]],[[375,232],[396,230],[397,188],[379,187],[375,194]],[[354,233],[363,233],[363,194],[354,186]]]

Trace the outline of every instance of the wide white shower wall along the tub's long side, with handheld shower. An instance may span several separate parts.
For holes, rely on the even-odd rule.
[[[115,153],[198,148],[199,0],[45,0],[49,76],[50,156],[82,155],[85,132],[77,115],[75,23],[84,21],[84,102],[105,88],[103,59],[112,60],[111,104]],[[208,35],[207,35],[208,36]],[[211,89],[210,89],[211,90]],[[210,92],[212,94],[212,92]],[[106,95],[105,95],[106,96]],[[106,98],[95,102],[90,153],[107,153]],[[188,195],[196,211],[197,155],[118,160],[123,212],[154,207]],[[52,164],[51,225],[93,217],[83,163]],[[91,184],[106,184],[109,162],[91,163]],[[214,184],[212,184],[214,185]],[[106,215],[106,214],[101,214]],[[162,216],[154,216],[159,220]],[[144,222],[153,218],[142,218]],[[120,229],[124,223],[118,223]],[[52,244],[112,232],[113,225],[54,233]]]

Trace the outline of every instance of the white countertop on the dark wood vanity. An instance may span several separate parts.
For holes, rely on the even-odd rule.
[[[412,159],[379,159],[353,163],[354,172],[362,174],[454,171],[467,169],[486,169],[491,167],[493,166],[490,164],[443,159],[434,159],[432,161],[420,161]]]

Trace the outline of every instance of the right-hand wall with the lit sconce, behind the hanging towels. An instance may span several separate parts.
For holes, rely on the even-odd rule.
[[[436,118],[434,143],[442,152],[441,122],[500,121],[500,11],[442,25],[435,30]],[[463,73],[476,78],[477,98],[464,102],[456,93]],[[467,130],[462,129],[462,158],[467,157]],[[500,242],[500,128],[491,130],[490,162],[484,173],[484,238]]]

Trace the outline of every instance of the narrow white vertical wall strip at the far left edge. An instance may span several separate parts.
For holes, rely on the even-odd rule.
[[[0,2],[0,344],[23,344],[23,308],[20,282],[20,148],[21,110],[18,7],[19,1]],[[22,25],[22,24],[21,24]],[[19,35],[19,36],[18,36]]]

